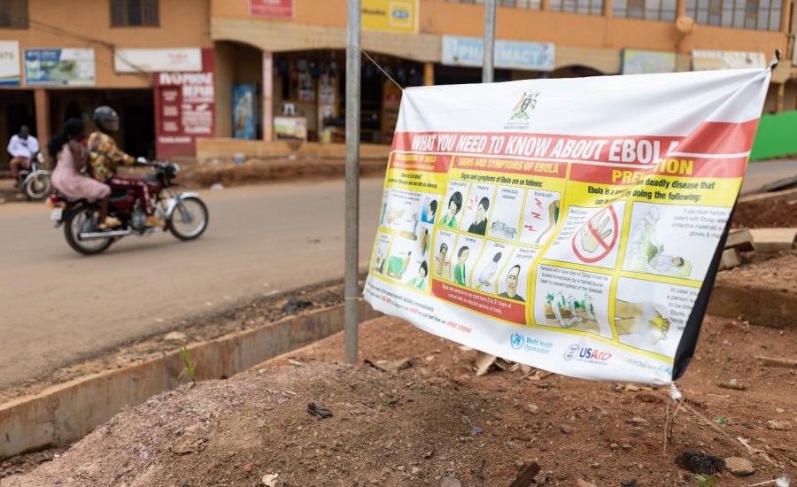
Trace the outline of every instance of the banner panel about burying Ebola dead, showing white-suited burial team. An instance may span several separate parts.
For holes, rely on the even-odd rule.
[[[613,337],[608,315],[610,275],[540,265],[536,278],[534,321],[538,326]]]

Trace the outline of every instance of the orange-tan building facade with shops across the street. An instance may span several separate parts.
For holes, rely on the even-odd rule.
[[[481,81],[484,0],[361,0],[361,138],[390,143],[401,88]],[[497,0],[495,81],[766,66],[797,109],[793,0]],[[398,5],[398,6],[397,6]],[[0,2],[0,138],[100,104],[135,155],[197,137],[343,140],[345,0]],[[794,59],[797,61],[797,59]]]

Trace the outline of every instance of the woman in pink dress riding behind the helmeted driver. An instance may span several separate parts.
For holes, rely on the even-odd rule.
[[[89,202],[101,200],[99,228],[110,228],[120,224],[119,219],[108,215],[108,197],[111,188],[96,179],[81,174],[86,164],[86,148],[81,140],[86,138],[86,127],[80,119],[66,120],[61,133],[47,144],[50,157],[56,158],[52,172],[52,185],[70,201],[85,199]]]

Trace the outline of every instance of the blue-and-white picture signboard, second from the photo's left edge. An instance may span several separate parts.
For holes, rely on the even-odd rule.
[[[26,49],[27,86],[94,86],[93,49]]]

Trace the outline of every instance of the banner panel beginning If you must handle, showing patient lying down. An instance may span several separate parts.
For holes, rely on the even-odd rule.
[[[631,205],[623,270],[701,281],[730,208]]]

